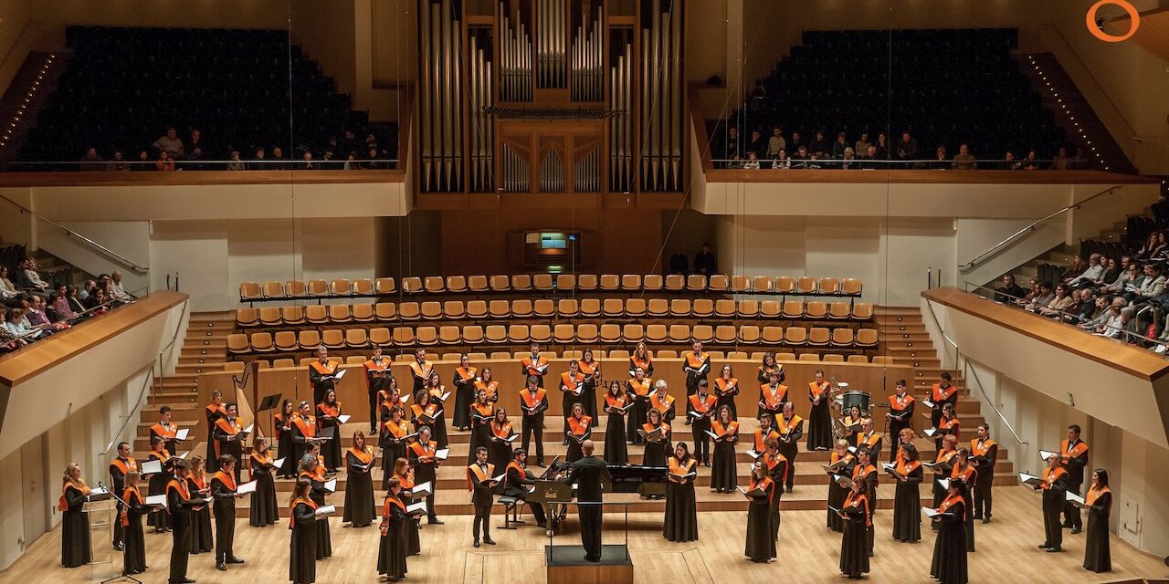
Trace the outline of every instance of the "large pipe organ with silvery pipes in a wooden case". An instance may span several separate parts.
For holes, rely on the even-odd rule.
[[[417,0],[423,193],[680,193],[683,0]]]

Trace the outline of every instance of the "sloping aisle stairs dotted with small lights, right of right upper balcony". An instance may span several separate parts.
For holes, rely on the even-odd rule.
[[[1021,54],[1017,55],[1017,60],[1019,69],[1031,79],[1031,85],[1038,89],[1044,109],[1052,112],[1056,125],[1067,132],[1067,142],[1084,147],[1085,158],[1090,162],[1087,168],[1136,174],[1133,162],[1125,155],[1125,151],[1097,117],[1054,55]],[[1073,154],[1074,150],[1067,152],[1068,157]]]

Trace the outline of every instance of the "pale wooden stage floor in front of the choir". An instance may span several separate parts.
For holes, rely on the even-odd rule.
[[[1036,545],[1043,541],[1039,496],[1024,487],[995,489],[995,520],[975,528],[977,551],[969,556],[971,583],[1014,582],[1112,582],[1133,577],[1164,577],[1169,568],[1160,558],[1141,554],[1113,535],[1112,573],[1091,573],[1080,565],[1084,559],[1084,535],[1064,531],[1063,554],[1045,554]],[[497,507],[499,509],[499,507]],[[841,576],[841,536],[824,527],[824,512],[793,510],[782,515],[779,558],[772,564],[753,564],[743,555],[746,514],[710,512],[699,514],[701,540],[671,543],[662,538],[660,516],[634,514],[629,531],[636,578],[646,584],[683,584],[715,582],[767,582],[781,577],[790,583],[848,582]],[[894,542],[890,536],[892,512],[878,512],[876,519],[877,556],[872,559],[870,582],[931,583],[929,561],[933,531],[925,528],[918,544]],[[444,526],[424,526],[421,556],[409,558],[406,582],[434,584],[541,584],[544,576],[544,530],[531,523],[518,530],[504,530],[500,515],[494,515],[492,536],[497,545],[471,547],[471,516],[443,517]],[[620,517],[607,515],[606,543],[618,543]],[[341,527],[332,521],[333,557],[317,564],[317,582],[352,584],[378,582],[378,529]],[[558,536],[563,543],[579,543],[569,521],[569,533]],[[718,534],[718,535],[717,535]],[[65,570],[60,566],[61,529],[54,529],[34,542],[0,582],[50,584],[87,582],[89,570]],[[165,583],[171,550],[170,535],[146,534],[147,564],[138,578],[145,583]],[[286,523],[264,529],[250,528],[240,520],[236,554],[245,564],[215,570],[213,556],[191,558],[189,577],[200,583],[271,584],[288,582],[289,531]],[[116,559],[120,568],[120,557]]]

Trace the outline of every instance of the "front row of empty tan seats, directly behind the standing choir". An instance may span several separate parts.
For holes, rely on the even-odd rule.
[[[383,348],[416,349],[419,347],[465,348],[521,347],[530,342],[541,345],[587,345],[600,348],[628,347],[637,342],[658,347],[685,348],[692,340],[715,347],[787,347],[841,350],[876,349],[876,328],[803,327],[758,325],[683,325],[683,324],[561,324],[561,325],[466,325],[466,326],[395,326],[374,328],[314,328],[300,331],[268,331],[233,334],[228,338],[228,353],[296,354],[330,349],[367,349],[372,345]]]

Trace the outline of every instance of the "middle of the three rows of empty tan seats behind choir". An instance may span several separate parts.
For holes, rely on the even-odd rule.
[[[600,319],[690,319],[719,321],[839,321],[872,320],[873,305],[843,300],[732,300],[708,298],[561,298],[511,300],[426,300],[378,304],[331,304],[238,308],[241,328],[302,327],[304,325],[372,326],[379,322],[458,322],[500,320],[510,322]]]

